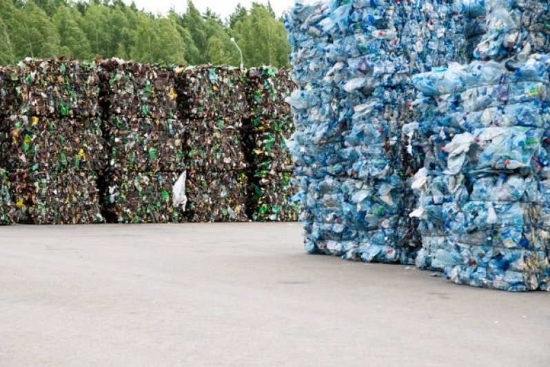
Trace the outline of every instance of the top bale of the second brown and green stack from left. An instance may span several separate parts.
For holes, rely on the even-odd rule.
[[[99,63],[101,105],[108,115],[174,119],[176,89],[172,68],[109,59]]]

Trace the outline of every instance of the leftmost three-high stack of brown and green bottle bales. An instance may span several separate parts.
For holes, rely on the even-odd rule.
[[[96,64],[26,59],[3,77],[8,72],[2,82],[0,188],[2,201],[10,197],[12,204],[4,218],[27,224],[102,222]]]

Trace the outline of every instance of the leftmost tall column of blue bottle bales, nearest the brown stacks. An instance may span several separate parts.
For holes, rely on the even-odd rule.
[[[338,90],[323,78],[330,64],[325,48],[331,43],[320,21],[334,10],[326,3],[296,1],[285,14],[285,27],[292,46],[292,79],[298,89],[287,99],[294,115],[296,132],[288,142],[296,163],[305,228],[305,249],[311,253],[343,255],[343,246],[355,246],[358,233],[343,224],[343,182],[349,159],[345,157],[343,132],[345,113]]]

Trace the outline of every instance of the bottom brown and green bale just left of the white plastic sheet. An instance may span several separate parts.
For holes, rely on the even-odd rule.
[[[108,172],[101,183],[105,217],[119,223],[181,223],[185,208],[174,208],[172,190],[177,172]]]

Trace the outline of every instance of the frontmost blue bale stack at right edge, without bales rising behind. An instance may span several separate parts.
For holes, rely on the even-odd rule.
[[[439,199],[441,219],[433,224],[446,235],[429,255],[458,284],[547,287],[540,184],[548,175],[544,162],[550,163],[542,148],[550,123],[549,67],[545,55],[520,64],[474,61],[418,83],[425,92],[438,90],[435,99],[453,95],[444,121],[464,131],[441,147],[439,195],[425,185]]]

